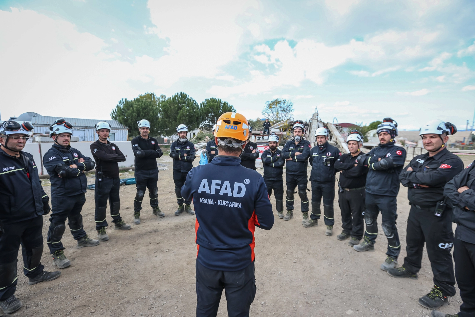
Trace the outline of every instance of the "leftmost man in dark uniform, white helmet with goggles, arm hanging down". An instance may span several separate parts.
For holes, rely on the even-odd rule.
[[[33,155],[22,151],[32,130],[29,122],[5,121],[0,126],[0,307],[5,314],[22,306],[14,295],[20,244],[28,285],[51,281],[61,275],[59,271],[45,271],[40,262],[42,215],[48,214],[51,208]]]

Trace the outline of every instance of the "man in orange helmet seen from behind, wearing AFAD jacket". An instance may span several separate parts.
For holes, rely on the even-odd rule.
[[[219,155],[193,168],[181,188],[196,210],[196,317],[218,314],[223,288],[228,316],[247,317],[256,296],[254,231],[256,226],[270,230],[274,215],[264,179],[239,162],[248,134],[246,118],[227,112],[219,123]]]

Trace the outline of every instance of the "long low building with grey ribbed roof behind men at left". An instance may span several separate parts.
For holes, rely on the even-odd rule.
[[[97,140],[97,134],[95,133],[95,124],[99,121],[108,122],[111,125],[111,133],[109,134],[109,140],[111,141],[127,141],[128,129],[126,126],[120,124],[116,120],[95,120],[95,119],[79,119],[79,118],[66,118],[61,116],[44,116],[39,115],[36,112],[25,112],[18,116],[18,118],[10,118],[10,120],[16,121],[29,121],[35,128],[33,130],[34,135],[48,134],[49,126],[52,125],[56,119],[64,118],[66,122],[73,125],[73,135],[79,137],[79,141],[95,141]]]

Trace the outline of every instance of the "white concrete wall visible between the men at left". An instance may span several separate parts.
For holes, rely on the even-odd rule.
[[[74,147],[79,150],[83,155],[93,158],[91,154],[90,146],[93,142],[72,142],[71,147]],[[130,167],[133,166],[134,156],[132,151],[132,144],[131,141],[115,141],[113,142],[116,144],[121,152],[125,155],[125,162],[120,162],[119,167]],[[24,152],[28,152],[33,155],[33,159],[38,166],[38,173],[47,174],[47,171],[43,166],[39,165],[42,162],[42,157],[40,158],[40,153],[42,156],[46,154],[46,152],[53,146],[52,142],[42,142],[42,143],[27,143],[25,146]],[[42,168],[41,168],[42,167]]]

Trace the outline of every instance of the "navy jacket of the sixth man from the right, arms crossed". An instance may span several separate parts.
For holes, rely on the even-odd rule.
[[[307,140],[301,140],[297,145],[295,145],[294,140],[287,141],[280,152],[280,156],[284,160],[292,159],[291,161],[285,161],[285,172],[294,175],[306,175],[310,148],[310,142]],[[295,152],[302,154],[295,156]]]

